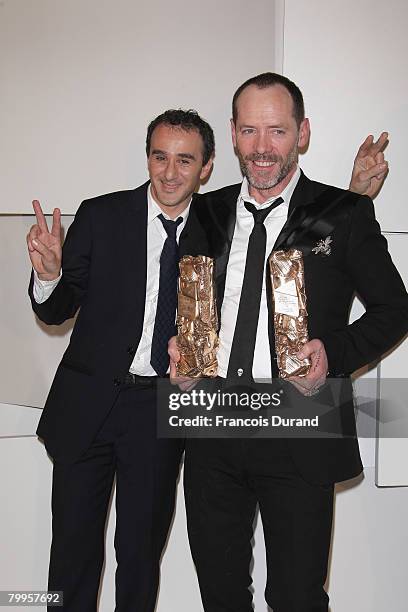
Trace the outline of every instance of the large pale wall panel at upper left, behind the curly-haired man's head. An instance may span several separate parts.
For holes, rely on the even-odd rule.
[[[278,8],[282,0],[277,0]],[[75,212],[91,195],[144,182],[146,127],[195,108],[214,127],[206,189],[239,180],[231,98],[274,69],[283,15],[259,0],[4,0],[0,4],[1,212]]]

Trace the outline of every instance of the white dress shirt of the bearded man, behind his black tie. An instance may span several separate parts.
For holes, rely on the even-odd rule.
[[[225,378],[228,371],[228,363],[231,353],[232,341],[234,339],[235,324],[238,316],[239,300],[241,297],[242,283],[244,280],[245,262],[248,250],[249,236],[254,227],[253,214],[248,211],[244,202],[251,202],[258,209],[267,208],[278,197],[283,202],[273,209],[266,217],[264,225],[266,229],[266,252],[265,266],[272,251],[273,245],[283,228],[289,210],[289,203],[300,178],[300,169],[296,168],[290,182],[282,193],[273,196],[264,204],[259,204],[249,195],[248,181],[245,178],[242,183],[241,192],[237,200],[237,217],[235,222],[234,236],[227,265],[227,276],[225,280],[224,299],[221,308],[220,344],[218,349],[218,375]],[[258,328],[256,333],[255,353],[252,375],[254,379],[270,379],[271,377],[271,355],[268,336],[268,304],[266,299],[265,275],[262,285],[261,303],[259,309]]]

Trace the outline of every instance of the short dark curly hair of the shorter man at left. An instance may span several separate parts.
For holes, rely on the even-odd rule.
[[[215,141],[214,141],[214,132],[212,127],[204,121],[200,117],[200,115],[195,110],[182,110],[182,109],[170,109],[166,110],[164,113],[153,119],[149,123],[149,127],[147,128],[147,136],[146,136],[146,154],[149,157],[150,154],[150,142],[152,139],[152,134],[154,129],[158,125],[173,125],[175,127],[180,127],[182,130],[186,132],[190,132],[191,130],[195,130],[201,136],[203,141],[203,166],[210,160],[210,158],[214,155],[215,151]]]

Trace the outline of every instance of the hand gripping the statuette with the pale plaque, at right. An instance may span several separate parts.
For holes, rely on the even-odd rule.
[[[306,376],[291,376],[288,378],[288,381],[302,395],[314,395],[326,382],[328,361],[323,342],[318,339],[306,342],[302,350],[297,354],[297,357],[299,359],[306,359],[306,357],[310,359],[310,371]]]

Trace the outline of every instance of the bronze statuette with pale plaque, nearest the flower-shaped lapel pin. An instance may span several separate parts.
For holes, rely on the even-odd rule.
[[[296,357],[309,340],[302,252],[298,249],[275,251],[269,258],[269,266],[279,376],[306,376],[310,360]]]

